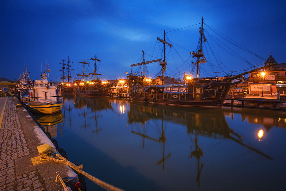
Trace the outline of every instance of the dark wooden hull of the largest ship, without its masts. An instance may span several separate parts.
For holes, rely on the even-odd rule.
[[[160,84],[131,87],[133,101],[173,106],[222,107],[229,88],[229,77],[195,79],[188,84]]]

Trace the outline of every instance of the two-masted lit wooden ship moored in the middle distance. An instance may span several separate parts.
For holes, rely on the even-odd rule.
[[[97,72],[97,61],[101,61],[100,59],[90,58],[90,60],[94,61],[94,70],[93,73],[88,73],[86,75],[85,65],[89,65],[90,62],[86,62],[84,59],[83,62],[79,61],[80,64],[83,65],[82,74],[78,74],[79,77],[82,77],[82,79],[75,80],[74,81],[74,87],[75,87],[75,94],[76,96],[81,97],[104,97],[108,94],[108,91],[111,89],[112,85],[108,83],[108,81],[102,81],[100,79],[101,73]],[[87,78],[90,77],[90,75],[93,75],[93,79]]]

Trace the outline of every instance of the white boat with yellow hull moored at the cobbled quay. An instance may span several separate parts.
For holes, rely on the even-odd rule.
[[[61,111],[63,97],[58,95],[57,87],[47,81],[47,69],[41,75],[41,79],[36,79],[33,87],[20,91],[20,100],[31,112],[41,112],[44,114],[54,114]]]

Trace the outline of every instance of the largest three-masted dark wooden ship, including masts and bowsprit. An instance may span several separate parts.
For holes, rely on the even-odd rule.
[[[145,61],[144,51],[142,51],[143,62],[131,65],[131,67],[143,65],[144,68],[144,75],[128,74],[130,98],[133,101],[174,106],[222,107],[230,87],[243,80],[235,81],[235,79],[264,68],[260,67],[235,76],[200,78],[199,66],[202,63],[206,63],[202,49],[203,42],[206,41],[203,24],[202,18],[198,50],[190,53],[192,57],[196,58],[196,77],[185,75],[183,78],[185,83],[183,84],[168,84],[168,82],[165,82],[166,80],[164,81],[164,72],[167,66],[166,45],[172,47],[172,44],[166,41],[166,32],[164,31],[164,39],[157,38],[164,46],[163,58]],[[162,82],[160,84],[156,83],[154,79],[149,79],[145,76],[145,65],[152,62],[159,62],[160,66],[162,66],[162,76],[160,76]]]

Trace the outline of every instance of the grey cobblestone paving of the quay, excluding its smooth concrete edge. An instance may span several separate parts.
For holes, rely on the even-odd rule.
[[[17,112],[13,97],[7,97],[0,130],[0,190],[46,190],[37,170],[16,175],[15,159],[30,154]]]

